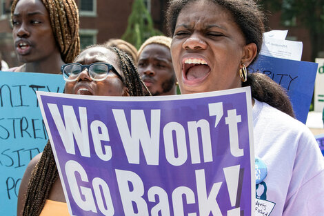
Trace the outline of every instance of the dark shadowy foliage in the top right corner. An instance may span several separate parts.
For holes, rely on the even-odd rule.
[[[265,10],[281,10],[281,21],[296,21],[309,31],[312,59],[324,50],[324,0],[262,0]]]

